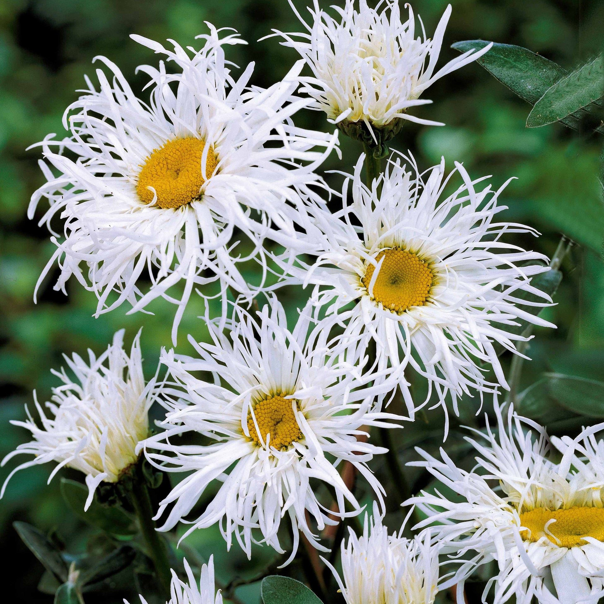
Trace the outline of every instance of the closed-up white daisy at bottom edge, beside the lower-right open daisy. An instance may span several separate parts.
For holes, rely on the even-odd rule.
[[[327,560],[347,604],[432,604],[439,591],[439,548],[429,532],[414,539],[388,535],[377,506],[363,534],[342,541],[342,577]]]

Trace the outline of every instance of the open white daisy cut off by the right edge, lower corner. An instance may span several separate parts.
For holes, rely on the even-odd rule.
[[[544,428],[518,417],[495,401],[497,431],[475,431],[483,445],[466,439],[476,451],[477,466],[467,472],[441,449],[443,461],[421,449],[424,466],[448,489],[459,495],[422,492],[416,503],[429,517],[419,527],[435,523],[435,539],[449,552],[467,561],[457,577],[463,580],[478,565],[496,561],[495,604],[515,596],[528,604],[596,602],[604,596],[604,442],[593,440],[600,424],[572,441],[552,439]],[[535,432],[524,428],[530,426]],[[579,457],[580,455],[580,457]],[[469,556],[467,555],[469,554]],[[473,555],[473,557],[472,557]]]

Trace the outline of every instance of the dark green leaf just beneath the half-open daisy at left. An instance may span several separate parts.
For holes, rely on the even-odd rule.
[[[88,524],[101,528],[111,535],[129,537],[137,534],[137,527],[130,516],[119,507],[101,506],[96,499],[93,499],[85,512],[84,504],[88,497],[88,488],[82,483],[63,478],[61,494],[71,510]]]

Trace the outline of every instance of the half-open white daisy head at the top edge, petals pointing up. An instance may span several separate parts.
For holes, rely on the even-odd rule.
[[[451,16],[449,4],[440,19],[434,37],[423,30],[416,37],[415,17],[411,5],[406,21],[400,16],[399,2],[381,0],[370,8],[366,0],[346,0],[344,7],[333,6],[333,18],[314,0],[311,23],[289,0],[304,33],[286,34],[283,45],[295,48],[312,69],[304,92],[314,97],[334,123],[342,120],[383,127],[393,120],[416,121],[420,124],[443,124],[411,115],[408,109],[431,103],[420,95],[436,80],[478,59],[490,45],[478,52],[467,51],[435,71],[445,28]]]

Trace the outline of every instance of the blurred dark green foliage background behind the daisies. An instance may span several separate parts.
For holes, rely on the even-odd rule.
[[[302,10],[306,2],[295,4]],[[442,0],[414,2],[414,10],[422,16],[428,33],[434,31],[446,4]],[[400,5],[403,10],[403,2]],[[515,43],[568,69],[601,48],[601,1],[454,0],[452,5],[439,65],[457,55],[449,45],[464,39]],[[68,285],[68,297],[54,292],[56,271],[43,283],[37,305],[33,303],[34,285],[54,246],[47,230],[26,216],[30,195],[43,178],[37,167],[39,150],[25,149],[48,132],[63,137],[63,111],[77,98],[74,91],[82,88],[83,75],[94,74],[93,57],[109,56],[140,89],[145,79],[135,76],[136,66],[155,63],[157,56],[132,42],[129,34],[160,41],[172,38],[182,45],[199,47],[194,36],[206,33],[205,20],[217,27],[236,28],[248,40],[249,46],[228,48],[228,53],[240,66],[251,60],[256,62],[252,80],[256,85],[271,85],[297,59],[294,51],[281,47],[277,39],[255,42],[270,33],[271,28],[300,31],[284,0],[0,0],[1,455],[27,438],[27,432],[10,426],[8,420],[24,417],[23,406],[31,402],[32,390],[37,390],[40,400],[48,400],[50,387],[57,385],[49,370],[60,367],[63,352],[82,354],[89,347],[100,353],[115,330],[126,327],[130,342],[144,323],[146,370],[152,373],[159,349],[170,345],[174,310],[169,304],[156,301],[151,306],[155,316],[126,316],[123,306],[94,319],[94,294],[73,280]],[[509,205],[506,219],[528,223],[542,233],[539,239],[517,237],[517,243],[548,255],[553,254],[562,232],[577,243],[563,266],[557,306],[544,312],[558,328],[536,330],[537,337],[528,352],[533,361],[524,365],[522,388],[535,382],[544,371],[604,381],[604,265],[600,259],[604,209],[596,180],[601,140],[557,124],[526,129],[530,106],[477,65],[446,76],[429,89],[426,97],[432,98],[434,104],[419,108],[417,114],[447,125],[439,128],[409,124],[391,145],[394,149],[411,149],[423,169],[439,162],[441,155],[449,167],[454,160],[462,161],[474,177],[492,174],[494,188],[516,176],[500,198],[501,203]],[[298,119],[306,126],[331,129],[320,112],[307,112]],[[361,152],[360,144],[344,137],[341,146],[343,161],[339,162],[333,154],[324,165],[326,170],[349,170]],[[328,178],[331,184],[338,185],[335,176]],[[44,201],[40,202],[38,219],[40,210],[46,207]],[[294,299],[293,292],[284,292],[291,309]],[[300,301],[296,303],[299,305]],[[187,333],[198,339],[204,337],[202,322],[196,318],[201,312],[198,300],[187,309],[179,332],[179,352],[190,350]],[[509,358],[504,357],[504,363],[507,367]],[[477,405],[475,401],[462,405],[461,423],[481,424],[481,419],[473,419]],[[577,429],[580,419],[576,414],[566,414],[563,419],[568,417],[575,420],[574,424],[567,424],[571,426],[568,429]],[[434,441],[431,446],[439,445],[439,439],[434,437],[442,434],[442,416],[433,411],[428,412],[427,419],[428,424],[416,422],[400,431],[403,434],[397,436],[397,447],[402,460],[414,456],[411,445],[427,439]],[[547,416],[537,419],[548,421]],[[463,454],[459,423],[453,422],[447,443],[454,456]],[[0,480],[14,465],[11,461],[2,469]],[[374,467],[381,474],[381,462]],[[21,544],[11,522],[21,519],[43,530],[58,527],[69,542],[76,544],[74,547],[86,535],[85,525],[69,515],[60,497],[59,480],[55,478],[50,486],[46,485],[50,470],[51,467],[34,467],[19,472],[0,501],[0,539],[5,552],[1,572],[3,586],[13,586],[12,602],[51,602],[52,596],[36,590],[42,567]],[[63,475],[81,478],[69,472]],[[426,485],[427,479],[419,469],[410,471],[408,478],[413,491]],[[396,505],[390,511],[396,516]],[[253,566],[246,565],[240,552],[225,558],[217,530],[200,533],[193,541],[205,556],[216,554],[221,561],[218,572],[225,581],[233,573],[242,572],[242,568]],[[262,559],[254,564],[262,565]],[[246,602],[258,601],[257,585],[240,588],[237,594]],[[130,593],[129,597],[134,596]],[[114,601],[109,596],[102,600]]]

